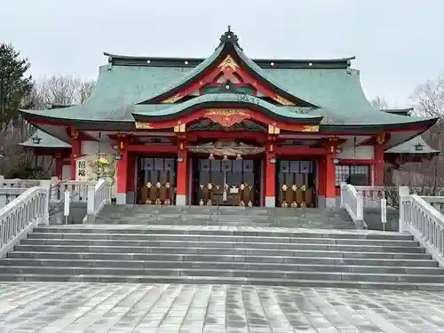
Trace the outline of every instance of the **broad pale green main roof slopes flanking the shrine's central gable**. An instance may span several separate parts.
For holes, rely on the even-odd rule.
[[[226,36],[226,35],[224,35]],[[237,38],[237,37],[236,37]],[[234,46],[233,46],[234,45]],[[432,124],[433,119],[406,117],[395,113],[383,112],[372,107],[366,99],[360,82],[359,71],[345,67],[349,60],[342,60],[341,66],[331,68],[303,67],[260,67],[249,59],[236,43],[232,49],[242,58],[251,70],[270,83],[287,91],[316,107],[277,107],[265,101],[260,102],[276,115],[295,118],[301,115],[322,116],[321,124],[325,126],[368,126],[381,127],[408,123]],[[71,122],[107,122],[133,123],[132,114],[162,115],[183,110],[188,105],[202,102],[206,98],[194,98],[194,102],[183,101],[168,104],[139,104],[154,96],[160,96],[170,87],[187,82],[191,77],[202,73],[222,54],[224,44],[220,44],[209,59],[197,67],[155,66],[145,63],[136,65],[119,65],[111,60],[100,67],[99,79],[91,98],[83,105],[48,109],[44,111],[22,110],[26,117],[49,117],[54,120]],[[139,59],[137,61],[140,61]],[[188,66],[188,65],[187,65]],[[186,104],[188,103],[188,104]],[[185,104],[180,106],[181,104]],[[172,108],[171,108],[172,107]],[[168,110],[167,110],[168,109]],[[157,113],[157,114],[156,114]]]

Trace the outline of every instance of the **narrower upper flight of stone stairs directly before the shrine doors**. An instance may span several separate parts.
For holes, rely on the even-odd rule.
[[[355,229],[345,210],[108,205],[95,224]]]

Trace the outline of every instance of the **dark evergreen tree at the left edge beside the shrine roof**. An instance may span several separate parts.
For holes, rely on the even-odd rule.
[[[32,91],[30,64],[10,44],[0,44],[0,131],[19,118],[19,108]]]

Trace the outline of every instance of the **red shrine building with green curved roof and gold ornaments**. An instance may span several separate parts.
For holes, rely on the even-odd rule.
[[[119,204],[333,207],[341,182],[438,153],[436,119],[372,107],[353,58],[250,59],[230,29],[206,59],[105,55],[82,105],[20,110],[22,146],[59,178],[111,156]]]

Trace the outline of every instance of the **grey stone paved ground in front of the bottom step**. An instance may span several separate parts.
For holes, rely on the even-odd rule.
[[[444,332],[444,292],[8,282],[5,332]]]

